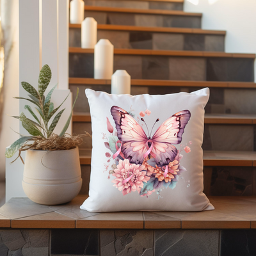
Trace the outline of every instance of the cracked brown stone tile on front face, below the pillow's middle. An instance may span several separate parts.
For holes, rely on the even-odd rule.
[[[153,256],[153,230],[100,230],[100,255]]]

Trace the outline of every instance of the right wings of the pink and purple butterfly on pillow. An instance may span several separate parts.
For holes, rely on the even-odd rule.
[[[156,154],[157,165],[163,166],[172,162],[177,155],[177,148],[172,144],[179,144],[182,141],[182,134],[191,113],[189,110],[180,111],[160,125],[152,137],[152,152]]]

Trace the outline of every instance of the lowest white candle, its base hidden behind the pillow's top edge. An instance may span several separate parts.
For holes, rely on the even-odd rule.
[[[116,70],[111,79],[112,94],[131,94],[131,76],[126,70]]]

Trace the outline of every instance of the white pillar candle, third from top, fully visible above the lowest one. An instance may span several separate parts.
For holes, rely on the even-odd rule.
[[[94,49],[94,78],[111,79],[114,66],[114,45],[108,39],[100,39]]]

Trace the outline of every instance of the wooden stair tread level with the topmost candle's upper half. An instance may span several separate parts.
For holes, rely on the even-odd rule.
[[[119,13],[143,13],[143,14],[157,14],[157,15],[179,15],[179,16],[193,16],[202,17],[202,13],[182,12],[176,10],[153,10],[153,9],[132,9],[132,8],[115,8],[103,6],[84,6],[84,10],[93,12],[119,12]]]

